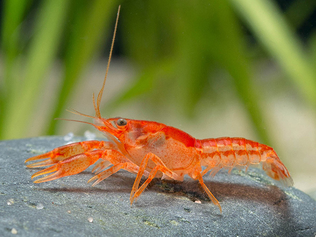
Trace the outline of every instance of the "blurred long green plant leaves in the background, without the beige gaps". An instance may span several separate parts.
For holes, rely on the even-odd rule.
[[[212,110],[213,104],[225,101],[221,96],[226,91],[239,99],[260,141],[270,144],[269,115],[254,80],[260,61],[275,61],[283,83],[290,83],[316,108],[315,34],[303,44],[295,33],[316,4],[300,2],[293,1],[283,13],[272,0],[6,0],[0,47],[0,139],[29,136],[28,124],[38,119],[34,114],[40,94],[45,93],[42,86],[50,79],[47,73],[59,61],[61,82],[46,108],[47,125],[41,131],[56,133],[59,121],[54,118],[69,106],[83,69],[108,51],[105,43],[122,4],[115,47],[139,73],[106,104],[107,114],[145,96],[154,110],[171,103],[179,114],[193,118],[202,99]]]

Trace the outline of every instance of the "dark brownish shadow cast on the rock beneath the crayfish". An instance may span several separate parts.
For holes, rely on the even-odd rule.
[[[80,181],[82,180],[83,182],[79,183],[78,180],[74,182],[72,180],[75,177],[69,177],[66,182],[63,181],[63,188],[58,188],[56,185],[55,187],[38,188],[38,190],[64,193],[89,192],[101,195],[109,192],[113,194],[129,194],[136,178],[134,174],[123,171],[115,173],[96,186],[91,187],[91,184],[84,182],[85,178],[91,178],[91,173],[84,171],[81,174],[83,174],[84,178],[80,178]],[[145,180],[145,177],[141,179],[140,186],[145,182]],[[221,203],[226,202],[236,204],[239,201],[245,203],[244,200],[247,200],[251,203],[262,203],[265,206],[273,206],[278,210],[281,208],[283,212],[286,212],[288,209],[286,200],[289,199],[289,197],[286,196],[285,193],[277,186],[263,184],[260,182],[250,185],[236,182],[230,183],[226,181],[219,182],[207,179],[204,180],[204,183]],[[67,185],[67,187],[65,187],[65,185]],[[192,180],[189,177],[185,177],[183,182],[154,178],[144,191],[144,193],[147,192],[164,194],[165,196],[168,196],[169,201],[172,199],[176,201],[180,197],[180,199],[188,198],[192,202],[198,200],[205,203],[212,202],[198,181]],[[173,198],[172,196],[176,198]],[[160,201],[156,200],[156,198],[151,199],[148,204],[141,201],[141,199],[143,199],[143,195],[141,195],[139,201],[135,203],[136,206],[146,207],[146,205],[159,205],[160,203]]]

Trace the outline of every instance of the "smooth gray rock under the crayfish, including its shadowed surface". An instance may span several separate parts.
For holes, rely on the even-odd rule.
[[[31,175],[40,169],[26,168],[24,160],[65,143],[63,137],[0,142],[1,236],[316,235],[316,201],[295,188],[280,189],[255,168],[231,175],[223,170],[213,179],[205,175],[222,214],[190,178],[155,179],[132,206],[129,194],[136,175],[124,170],[95,187],[86,183],[93,176],[91,167],[34,184]]]

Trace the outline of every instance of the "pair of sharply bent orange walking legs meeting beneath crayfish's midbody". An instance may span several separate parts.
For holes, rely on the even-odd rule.
[[[147,180],[145,181],[145,183],[138,189],[139,186],[139,182],[144,174],[144,171],[146,171],[146,166],[148,163],[148,160],[151,159],[153,160],[157,165],[151,170]],[[170,178],[172,179],[177,179],[178,175],[174,172],[172,172],[170,169],[168,169],[164,163],[162,162],[162,160],[160,158],[158,158],[158,156],[156,156],[153,153],[148,153],[142,160],[140,166],[139,166],[139,171],[137,174],[137,177],[135,179],[133,188],[132,188],[132,192],[130,194],[130,204],[133,203],[133,201],[135,199],[137,199],[137,197],[144,191],[144,189],[147,187],[147,185],[153,180],[153,178],[155,178],[156,173],[158,171],[161,171],[162,173],[168,175]]]

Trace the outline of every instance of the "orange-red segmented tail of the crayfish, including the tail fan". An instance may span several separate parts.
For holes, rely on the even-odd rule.
[[[201,173],[208,171],[215,174],[222,168],[246,167],[262,164],[271,178],[278,180],[285,187],[293,186],[285,165],[272,147],[240,137],[220,137],[198,140],[201,147],[201,165],[207,166]]]

